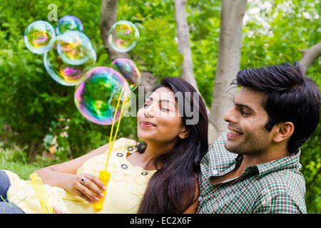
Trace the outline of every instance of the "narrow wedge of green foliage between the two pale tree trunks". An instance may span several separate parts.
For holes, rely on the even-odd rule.
[[[193,72],[198,90],[210,107],[220,36],[220,1],[191,1],[187,14]]]

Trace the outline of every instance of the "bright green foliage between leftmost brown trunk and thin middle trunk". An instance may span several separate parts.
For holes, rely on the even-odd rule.
[[[133,21],[139,29],[140,39],[130,54],[141,71],[151,71],[160,78],[180,76],[183,56],[175,41],[173,1],[118,1],[117,20]]]

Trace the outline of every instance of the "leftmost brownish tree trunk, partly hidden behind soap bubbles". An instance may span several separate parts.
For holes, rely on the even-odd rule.
[[[121,53],[115,51],[108,42],[108,32],[116,23],[117,19],[117,0],[103,0],[101,2],[101,22],[100,22],[100,30],[101,30],[101,38],[103,39],[103,45],[108,53],[109,58],[111,60],[115,60],[116,58],[128,58],[131,59],[131,56],[128,53]],[[141,72],[141,85],[144,86],[146,91],[151,90],[155,85],[157,78],[153,76],[153,74],[149,71]]]

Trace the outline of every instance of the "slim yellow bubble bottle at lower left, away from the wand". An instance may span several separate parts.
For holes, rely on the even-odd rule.
[[[31,185],[34,187],[36,197],[39,199],[44,214],[55,214],[54,207],[49,204],[49,195],[46,192],[41,178],[36,173],[31,174],[30,178]]]

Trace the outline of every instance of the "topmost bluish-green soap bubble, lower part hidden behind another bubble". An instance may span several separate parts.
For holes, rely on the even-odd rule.
[[[59,19],[56,25],[57,36],[69,30],[83,31],[83,24],[78,17],[67,15]]]

